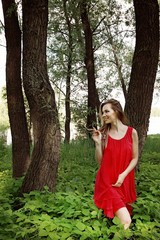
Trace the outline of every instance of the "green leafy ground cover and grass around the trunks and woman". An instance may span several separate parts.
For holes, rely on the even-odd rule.
[[[2,144],[1,144],[2,145]],[[17,196],[22,182],[11,178],[11,150],[0,150],[1,240],[158,240],[160,239],[160,136],[148,137],[136,173],[138,199],[133,221],[124,231],[115,217],[106,219],[93,203],[98,166],[89,141],[63,144],[55,193],[47,187]]]

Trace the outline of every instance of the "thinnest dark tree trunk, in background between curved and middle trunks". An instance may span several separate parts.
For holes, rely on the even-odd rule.
[[[67,78],[66,78],[66,98],[65,98],[65,139],[64,142],[69,143],[70,141],[70,122],[71,122],[71,109],[70,109],[70,95],[71,95],[71,69],[72,69],[72,53],[73,53],[73,40],[72,40],[72,29],[71,22],[67,12],[66,6],[67,0],[63,0],[63,9],[65,19],[68,28],[68,63],[67,63]]]

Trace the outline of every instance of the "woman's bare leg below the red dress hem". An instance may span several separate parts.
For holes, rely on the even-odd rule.
[[[119,218],[120,223],[124,225],[125,230],[129,228],[132,220],[126,207],[118,209],[115,215]]]

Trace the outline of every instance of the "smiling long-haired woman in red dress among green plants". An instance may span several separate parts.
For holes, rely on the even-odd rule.
[[[136,200],[134,168],[138,162],[138,136],[127,126],[122,106],[110,99],[100,106],[102,127],[94,129],[95,157],[100,164],[95,182],[94,202],[106,217],[117,216],[127,229],[131,204]]]

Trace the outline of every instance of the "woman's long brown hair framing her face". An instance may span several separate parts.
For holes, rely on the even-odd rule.
[[[113,111],[115,111],[117,113],[117,117],[118,119],[125,125],[128,125],[129,124],[129,121],[123,111],[123,108],[120,104],[119,101],[117,101],[116,99],[109,99],[109,100],[106,100],[104,102],[101,103],[100,107],[99,107],[99,117],[100,117],[100,120],[101,120],[101,128],[100,128],[100,131],[101,132],[106,132],[108,129],[110,129],[110,123],[109,124],[106,124],[104,123],[103,121],[103,118],[102,118],[102,109],[104,107],[104,105],[106,104],[111,104],[111,108],[113,109]]]

